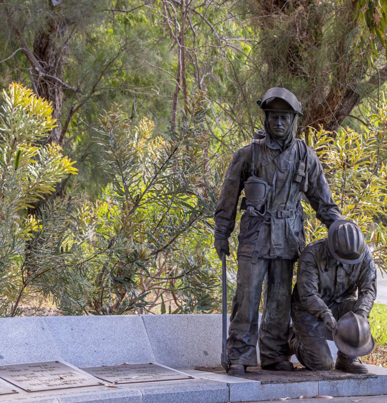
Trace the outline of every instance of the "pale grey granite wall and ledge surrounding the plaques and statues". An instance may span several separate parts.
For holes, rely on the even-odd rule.
[[[226,403],[317,394],[387,394],[387,369],[378,367],[370,367],[374,377],[366,379],[277,383],[193,369],[219,365],[221,324],[221,315],[217,314],[1,318],[0,365],[52,360],[77,367],[158,362],[182,370],[194,379],[28,394],[20,390],[19,395],[0,395],[0,402]],[[331,347],[335,359],[337,350]]]

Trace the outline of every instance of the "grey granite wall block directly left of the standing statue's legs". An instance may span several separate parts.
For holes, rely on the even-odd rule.
[[[221,315],[143,315],[156,361],[168,367],[218,366]]]

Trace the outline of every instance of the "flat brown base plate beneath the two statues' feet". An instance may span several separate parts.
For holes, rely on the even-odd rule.
[[[200,371],[213,372],[216,374],[226,375],[223,367],[197,367]],[[266,383],[290,383],[290,382],[307,382],[322,380],[344,380],[344,379],[365,379],[376,378],[375,374],[350,374],[342,371],[309,371],[301,364],[294,364],[294,371],[268,371],[261,367],[248,367],[246,373],[237,375],[238,378],[251,379]]]

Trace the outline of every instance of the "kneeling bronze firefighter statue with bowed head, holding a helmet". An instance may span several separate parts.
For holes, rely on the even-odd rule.
[[[330,370],[334,362],[326,340],[334,340],[335,368],[367,373],[358,357],[375,345],[367,320],[375,296],[375,264],[360,228],[336,221],[328,239],[309,244],[298,260],[290,354],[308,369]]]

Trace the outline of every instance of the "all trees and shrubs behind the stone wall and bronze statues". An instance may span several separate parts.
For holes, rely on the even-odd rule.
[[[212,216],[272,86],[385,271],[382,3],[0,0],[0,314],[218,312]]]

